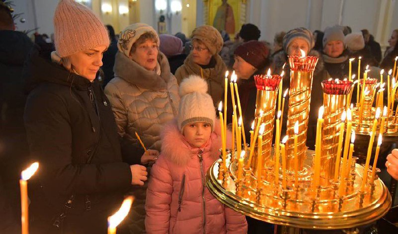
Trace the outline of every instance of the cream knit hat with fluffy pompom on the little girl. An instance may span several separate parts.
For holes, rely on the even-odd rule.
[[[214,131],[215,108],[211,96],[207,94],[207,83],[197,75],[183,79],[180,84],[181,96],[178,109],[178,128],[183,131],[184,126],[196,122],[206,122]]]

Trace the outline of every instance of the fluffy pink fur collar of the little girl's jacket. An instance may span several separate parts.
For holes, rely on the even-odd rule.
[[[193,148],[185,140],[185,137],[178,129],[177,119],[172,120],[164,127],[160,138],[162,140],[161,154],[169,161],[179,165],[187,165],[191,156],[196,156],[199,149],[203,153],[209,152],[210,157],[216,160],[219,158],[219,149],[221,148],[221,126],[220,121],[216,119],[214,125],[214,132],[211,133],[210,139],[203,146],[203,148]],[[231,132],[227,131],[227,149],[231,148]]]

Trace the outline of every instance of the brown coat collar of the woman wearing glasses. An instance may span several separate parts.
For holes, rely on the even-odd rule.
[[[198,64],[194,63],[192,60],[192,55],[188,55],[187,59],[184,61],[185,69],[188,71],[188,74],[198,74],[201,75],[200,69],[203,72],[204,79],[212,79],[217,83],[222,83],[223,78],[225,76],[225,71],[227,70],[227,66],[225,65],[222,58],[215,54],[213,56],[215,60],[214,68],[205,68],[202,69]]]

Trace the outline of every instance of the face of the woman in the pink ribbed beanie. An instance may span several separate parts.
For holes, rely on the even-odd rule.
[[[68,59],[72,65],[72,70],[80,76],[93,81],[102,66],[102,54],[106,49],[106,46],[99,46],[69,56]]]

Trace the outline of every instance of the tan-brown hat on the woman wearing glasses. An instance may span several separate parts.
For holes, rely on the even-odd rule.
[[[191,38],[192,40],[198,39],[201,41],[212,55],[221,51],[224,42],[218,30],[209,25],[202,25],[195,28]]]

